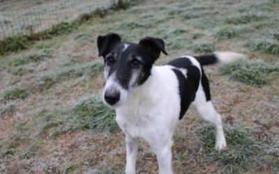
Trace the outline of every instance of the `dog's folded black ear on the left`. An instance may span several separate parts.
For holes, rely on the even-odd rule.
[[[105,56],[107,52],[112,49],[113,45],[120,42],[121,38],[116,33],[108,33],[107,35],[99,35],[97,39],[97,46],[99,56]]]

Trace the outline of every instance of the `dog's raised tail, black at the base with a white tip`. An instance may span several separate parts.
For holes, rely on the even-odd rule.
[[[213,65],[216,63],[233,63],[234,61],[245,59],[246,56],[234,52],[213,52],[213,54],[195,56],[195,58],[201,65]]]

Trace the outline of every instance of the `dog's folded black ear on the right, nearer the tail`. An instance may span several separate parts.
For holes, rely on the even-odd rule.
[[[165,51],[165,43],[162,39],[146,37],[140,40],[139,44],[146,47],[149,56],[151,56],[154,61],[159,58],[160,52],[167,55],[167,52]]]

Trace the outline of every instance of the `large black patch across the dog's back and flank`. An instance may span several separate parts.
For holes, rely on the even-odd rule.
[[[195,94],[197,88],[199,88],[200,72],[199,69],[192,65],[188,58],[176,58],[174,61],[167,63],[175,68],[183,68],[187,70],[186,77],[180,70],[172,69],[179,80],[179,95],[181,98],[181,110],[179,119],[183,118],[184,114],[188,110],[191,102],[195,100]]]

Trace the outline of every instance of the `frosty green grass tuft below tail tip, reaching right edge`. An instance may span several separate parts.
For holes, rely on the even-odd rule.
[[[262,60],[237,61],[224,65],[219,72],[223,75],[229,75],[229,78],[235,81],[262,87],[270,84],[271,79],[278,77],[279,64],[266,63]]]

